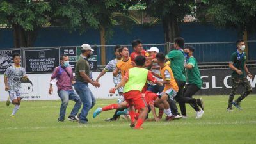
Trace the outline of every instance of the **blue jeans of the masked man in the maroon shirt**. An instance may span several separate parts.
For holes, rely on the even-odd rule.
[[[58,95],[61,99],[61,106],[60,106],[60,117],[59,120],[64,120],[66,115],[66,109],[68,106],[68,100],[73,100],[76,102],[74,108],[72,109],[70,116],[76,116],[79,109],[81,108],[82,102],[74,90],[59,90]]]

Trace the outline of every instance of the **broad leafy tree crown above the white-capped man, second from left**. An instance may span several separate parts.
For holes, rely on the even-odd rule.
[[[113,12],[127,13],[134,1],[125,0],[72,0],[49,1],[52,7],[51,22],[71,31],[83,33],[88,28],[106,29],[106,36],[113,35]]]

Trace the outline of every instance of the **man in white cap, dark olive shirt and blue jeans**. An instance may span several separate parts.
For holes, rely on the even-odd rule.
[[[95,97],[88,87],[88,83],[91,83],[96,88],[100,87],[100,84],[97,81],[93,81],[92,72],[90,70],[90,63],[88,62],[88,58],[93,53],[93,49],[88,44],[81,45],[81,55],[79,56],[75,74],[76,74],[76,83],[74,84],[74,88],[79,95],[81,101],[83,102],[83,109],[80,113],[80,121],[79,124],[87,124],[88,119],[87,115],[90,109],[95,105]]]

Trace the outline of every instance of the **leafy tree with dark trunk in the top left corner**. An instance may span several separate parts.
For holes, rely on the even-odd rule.
[[[48,21],[51,7],[44,1],[2,0],[0,19],[13,29],[14,47],[32,47],[36,33]]]

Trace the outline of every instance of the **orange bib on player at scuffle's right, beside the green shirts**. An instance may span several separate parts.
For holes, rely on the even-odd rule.
[[[161,77],[164,81],[170,81],[169,84],[164,84],[164,92],[170,88],[178,92],[179,87],[174,79],[172,69],[168,65],[164,65],[164,67],[161,68],[160,72],[161,72]]]

